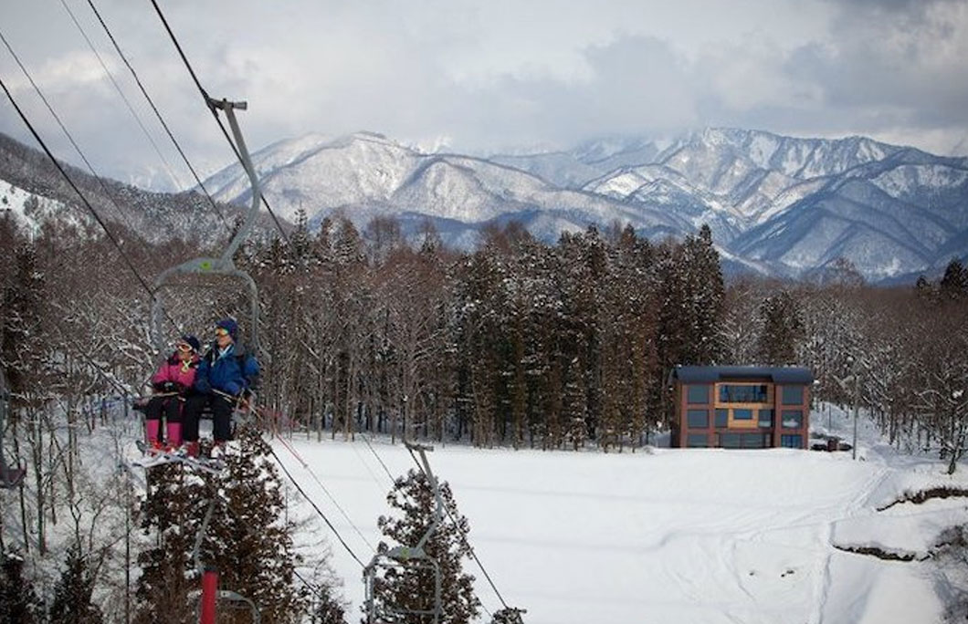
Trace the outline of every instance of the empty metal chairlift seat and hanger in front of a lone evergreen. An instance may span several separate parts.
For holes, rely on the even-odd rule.
[[[427,475],[427,480],[430,483],[431,489],[434,491],[434,498],[436,501],[436,506],[434,509],[434,516],[431,519],[430,526],[427,527],[427,531],[417,542],[416,546],[397,546],[385,552],[378,552],[370,560],[369,565],[363,570],[363,581],[366,585],[366,596],[364,602],[364,608],[367,614],[367,624],[387,624],[390,622],[400,622],[406,623],[412,621],[413,617],[425,617],[431,616],[433,624],[438,624],[440,621],[440,612],[442,611],[442,599],[441,599],[441,576],[440,576],[440,566],[436,559],[427,554],[424,550],[428,540],[437,530],[440,522],[443,520],[443,497],[440,495],[440,488],[437,482],[437,477],[434,476],[434,472],[430,468],[430,462],[427,461],[427,451],[433,451],[434,447],[427,446],[423,444],[414,444],[404,440],[404,444],[407,445],[409,451],[416,451],[420,454],[420,463],[422,464],[424,474]],[[375,586],[378,579],[380,578],[381,571],[383,573],[390,570],[400,570],[408,569],[411,573],[416,573],[421,569],[429,570],[434,576],[434,606],[431,609],[408,609],[402,606],[386,606],[379,605],[375,596]]]

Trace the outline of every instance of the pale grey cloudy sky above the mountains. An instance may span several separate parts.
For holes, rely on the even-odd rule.
[[[229,163],[151,0],[92,1],[199,172]],[[489,153],[712,126],[968,155],[968,0],[157,1],[206,90],[249,102],[254,150],[368,130]],[[99,173],[193,183],[88,0],[0,0],[0,33]],[[0,78],[80,164],[2,45]],[[2,94],[0,132],[36,145]]]

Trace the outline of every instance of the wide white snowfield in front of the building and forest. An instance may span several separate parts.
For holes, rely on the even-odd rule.
[[[830,418],[834,431],[850,431],[846,412],[815,418],[817,428]],[[371,447],[360,437],[297,436],[291,444],[304,467],[276,444],[367,562],[367,543],[380,539],[377,518],[389,513],[392,485],[380,461],[404,474],[415,467],[407,451],[386,440]],[[429,459],[469,519],[469,542],[499,592],[508,605],[528,609],[529,624],[937,621],[943,606],[930,560],[886,561],[835,547],[923,555],[943,528],[968,521],[963,500],[877,509],[905,490],[968,477],[898,455],[866,427],[859,450],[852,461],[850,453],[788,449],[603,454],[446,445]],[[305,501],[297,504],[300,515],[314,514]],[[304,544],[327,531],[317,524]],[[360,566],[335,536],[326,538],[355,613]],[[499,609],[480,570],[469,561],[465,570],[477,577],[487,611]]]

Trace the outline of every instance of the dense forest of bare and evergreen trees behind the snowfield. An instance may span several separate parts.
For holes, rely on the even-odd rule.
[[[60,575],[80,589],[62,601],[88,604],[92,591],[122,600],[126,587],[134,591],[121,579],[136,556],[121,554],[126,526],[140,521],[159,548],[167,539],[164,518],[145,516],[150,505],[138,509],[124,479],[90,487],[92,466],[79,461],[77,437],[103,426],[106,405],[142,391],[157,355],[151,297],[126,261],[151,283],[166,267],[213,251],[146,243],[122,227],[115,237],[125,259],[82,224],[50,222],[28,235],[0,215],[0,365],[13,392],[5,457],[25,464],[36,484],[29,495],[3,494],[0,595],[15,596],[10,608],[22,612],[49,612]],[[956,260],[934,282],[893,287],[865,284],[842,261],[812,282],[724,280],[706,227],[661,242],[620,225],[590,227],[552,245],[510,223],[486,230],[476,251],[459,253],[430,226],[408,245],[392,219],[358,230],[334,218],[310,231],[302,218],[288,241],[247,244],[235,261],[260,289],[266,427],[634,451],[668,427],[674,365],[796,364],[816,376],[817,401],[847,404],[857,392],[862,413],[901,450],[934,453],[953,471],[968,447],[968,271]],[[237,316],[245,335],[243,294],[230,284],[175,289],[169,313],[179,326],[166,326],[168,338],[192,331],[206,340],[225,315]],[[136,417],[130,422],[133,438]],[[30,557],[48,555],[57,542],[61,559],[47,572],[47,591],[16,585],[23,565],[20,554],[7,553],[15,542],[8,522],[30,534]],[[187,557],[188,535],[170,539]],[[172,574],[151,550],[138,556],[152,574]],[[295,556],[287,554],[288,566]],[[276,572],[291,581],[290,570]],[[92,591],[90,579],[100,583]],[[314,598],[331,588],[293,590],[280,609],[342,621],[338,598]],[[128,609],[132,617],[157,598],[145,591]],[[47,609],[36,607],[42,600]],[[123,621],[93,606],[84,612],[76,621]]]

